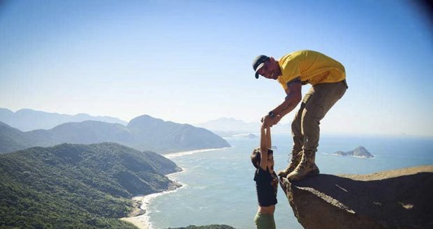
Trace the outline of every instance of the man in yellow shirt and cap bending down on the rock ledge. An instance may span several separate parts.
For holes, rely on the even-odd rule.
[[[253,68],[256,79],[263,75],[277,80],[287,94],[283,103],[262,118],[264,126],[277,124],[300,103],[302,85],[312,85],[293,119],[291,160],[285,170],[279,171],[279,176],[295,181],[317,175],[319,170],[315,158],[319,124],[348,88],[344,66],[320,52],[302,50],[286,54],[279,60],[260,55],[254,59]]]

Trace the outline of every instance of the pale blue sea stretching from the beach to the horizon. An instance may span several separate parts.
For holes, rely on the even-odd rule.
[[[226,138],[231,148],[168,156],[184,172],[170,175],[184,184],[181,189],[154,198],[147,209],[152,227],[176,228],[189,225],[228,224],[238,229],[254,228],[257,211],[254,167],[249,156],[259,139]],[[275,170],[287,165],[290,135],[273,135]],[[415,165],[433,164],[433,139],[379,138],[323,135],[316,163],[322,173],[366,174]],[[333,156],[364,146],[374,158]],[[277,228],[302,228],[279,188],[275,212]]]

